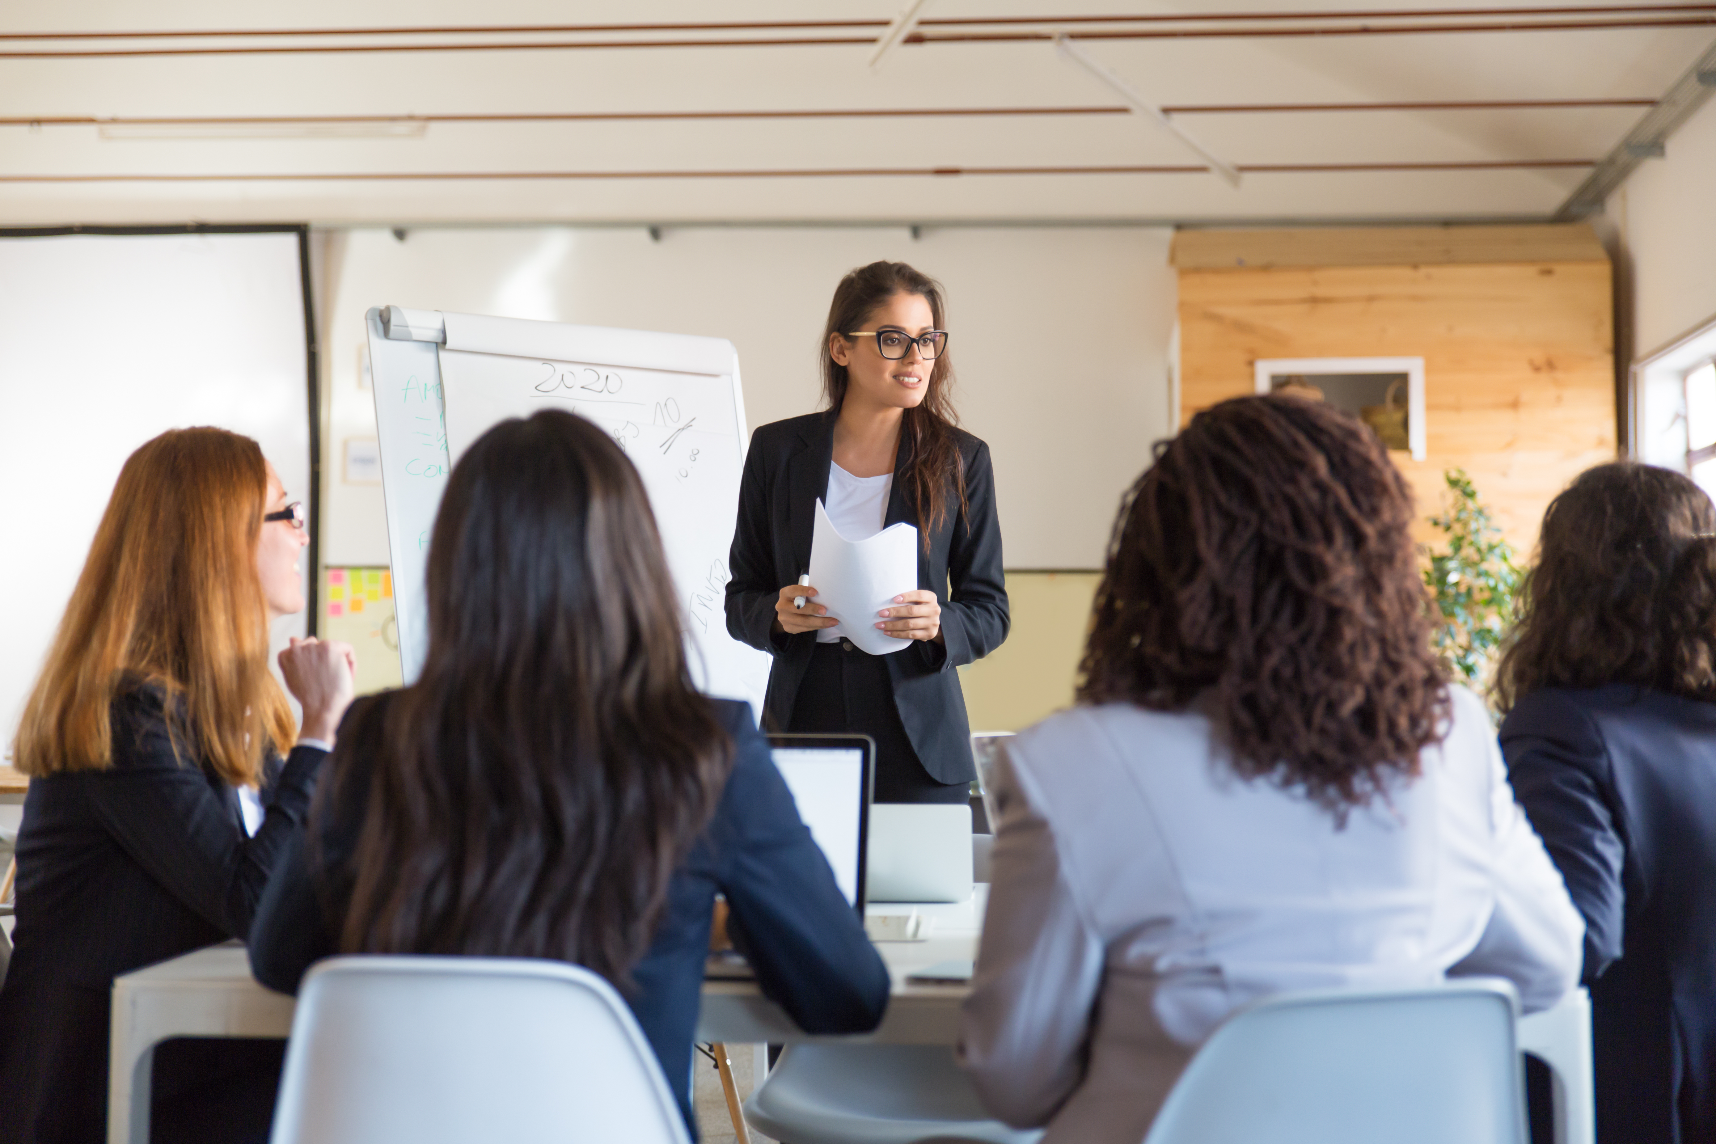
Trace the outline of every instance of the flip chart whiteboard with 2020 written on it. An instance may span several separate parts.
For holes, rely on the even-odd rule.
[[[698,688],[762,710],[769,657],[726,629],[746,444],[733,343],[396,307],[369,324],[407,681],[427,652],[427,539],[448,470],[496,422],[563,408],[607,431],[644,480]]]

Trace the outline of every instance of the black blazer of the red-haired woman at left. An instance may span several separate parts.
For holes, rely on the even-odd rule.
[[[244,936],[326,751],[269,760],[254,837],[239,796],[178,762],[161,695],[113,700],[113,767],[33,779],[17,839],[17,928],[0,988],[0,1137],[106,1139],[113,978]]]

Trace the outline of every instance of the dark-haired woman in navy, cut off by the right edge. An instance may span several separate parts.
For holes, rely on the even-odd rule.
[[[1599,465],[1550,503],[1496,693],[1586,916],[1598,1137],[1716,1141],[1716,508]]]

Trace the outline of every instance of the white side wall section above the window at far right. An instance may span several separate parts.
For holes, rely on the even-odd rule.
[[[1716,99],[1610,197],[1632,269],[1634,350],[1646,357],[1716,317]]]

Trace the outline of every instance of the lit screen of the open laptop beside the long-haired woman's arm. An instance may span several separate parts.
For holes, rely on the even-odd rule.
[[[769,736],[798,816],[822,847],[834,883],[863,914],[865,847],[870,818],[870,758],[863,736]]]

